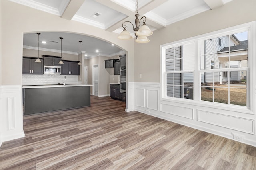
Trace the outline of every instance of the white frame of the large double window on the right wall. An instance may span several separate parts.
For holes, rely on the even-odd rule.
[[[200,42],[212,39],[216,37],[222,37],[226,35],[231,35],[234,33],[241,33],[244,31],[248,31],[248,82],[247,82],[247,104],[246,106],[238,106],[238,105],[230,105],[230,104],[222,104],[216,102],[206,102],[201,101],[201,82],[200,82],[200,73],[201,72],[212,72],[214,70],[200,70]],[[195,59],[195,70],[191,70],[190,72],[194,73],[194,98],[193,100],[183,99],[183,98],[172,98],[167,97],[166,95],[166,49],[170,47],[185,45],[187,43],[195,43],[196,49],[196,59]],[[172,43],[166,43],[160,45],[160,101],[169,101],[169,102],[178,102],[180,104],[192,104],[197,106],[206,106],[212,108],[220,108],[226,109],[230,111],[241,111],[243,113],[254,114],[255,110],[255,98],[256,98],[256,22],[245,23],[242,25],[237,25],[234,27],[222,29],[219,31],[214,31],[211,33],[207,33],[204,35],[199,35],[196,37],[191,37],[188,39],[183,39],[179,41],[175,41]],[[224,71],[225,69],[218,69],[219,71]],[[235,68],[234,70],[246,70],[244,68]],[[232,71],[232,70],[230,70]],[[181,71],[183,72],[183,71]],[[188,70],[186,70],[188,72]]]

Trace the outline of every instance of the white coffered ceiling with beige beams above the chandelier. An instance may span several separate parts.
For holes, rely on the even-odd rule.
[[[67,20],[120,33],[122,23],[134,23],[136,0],[9,0],[48,12]],[[161,29],[206,10],[214,10],[232,0],[138,0],[140,18],[152,31]],[[127,31],[134,34],[132,26]],[[99,40],[101,41],[101,40]]]

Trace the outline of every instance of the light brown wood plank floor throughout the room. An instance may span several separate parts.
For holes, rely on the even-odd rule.
[[[90,107],[25,116],[0,169],[256,170],[256,147],[124,109],[92,96]]]

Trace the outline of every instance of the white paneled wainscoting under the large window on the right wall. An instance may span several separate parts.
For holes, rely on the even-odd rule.
[[[160,83],[129,82],[126,111],[139,111],[154,117],[179,123],[215,135],[234,139],[242,137],[242,143],[256,146],[256,116],[248,111],[220,109],[206,106],[194,100],[160,100]]]

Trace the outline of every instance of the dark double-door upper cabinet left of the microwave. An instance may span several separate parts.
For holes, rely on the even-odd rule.
[[[41,63],[35,62],[36,58],[23,57],[22,74],[44,74],[44,60]]]

